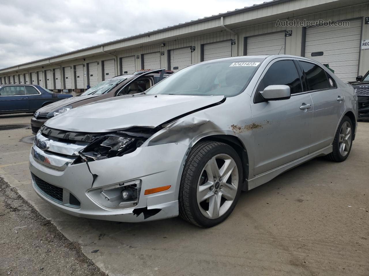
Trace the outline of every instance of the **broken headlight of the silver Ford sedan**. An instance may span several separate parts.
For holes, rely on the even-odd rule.
[[[143,142],[129,135],[108,134],[93,141],[79,154],[85,161],[101,160],[135,151]]]

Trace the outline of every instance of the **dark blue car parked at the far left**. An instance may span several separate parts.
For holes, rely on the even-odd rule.
[[[52,93],[39,85],[0,86],[0,114],[33,113],[42,106],[72,95]]]

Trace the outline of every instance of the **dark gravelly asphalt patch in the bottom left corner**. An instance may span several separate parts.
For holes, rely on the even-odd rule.
[[[0,248],[0,275],[106,275],[2,178]]]

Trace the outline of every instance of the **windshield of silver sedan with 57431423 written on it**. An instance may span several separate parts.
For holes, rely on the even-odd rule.
[[[221,59],[194,64],[163,79],[146,94],[235,96],[248,85],[263,60]]]

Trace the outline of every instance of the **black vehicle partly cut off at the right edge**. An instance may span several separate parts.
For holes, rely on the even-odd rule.
[[[359,102],[359,118],[369,118],[369,71],[363,76],[356,77],[351,84],[356,90]]]

